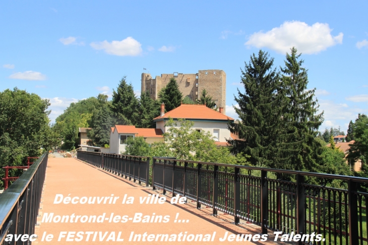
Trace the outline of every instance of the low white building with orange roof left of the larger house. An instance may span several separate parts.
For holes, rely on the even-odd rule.
[[[110,131],[110,153],[121,154],[125,152],[127,139],[130,137],[143,137],[148,144],[162,141],[163,132],[160,129],[141,129],[136,126],[115,125]]]

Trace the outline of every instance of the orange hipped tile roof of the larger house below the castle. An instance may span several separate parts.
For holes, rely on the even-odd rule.
[[[234,120],[218,111],[208,108],[205,105],[182,104],[163,116],[157,116],[153,120],[161,118],[185,118],[185,119],[208,119],[208,120]]]

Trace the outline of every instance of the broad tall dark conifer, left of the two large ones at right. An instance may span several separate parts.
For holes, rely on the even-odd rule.
[[[235,101],[239,107],[234,106],[240,121],[229,123],[230,132],[237,133],[240,139],[229,142],[231,151],[249,155],[252,165],[276,167],[278,162],[278,121],[283,96],[273,61],[267,52],[260,50],[258,56],[251,56],[249,64],[245,63],[244,71],[241,70],[245,93],[238,90]]]

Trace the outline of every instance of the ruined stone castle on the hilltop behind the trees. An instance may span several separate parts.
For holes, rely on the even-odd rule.
[[[158,98],[158,92],[165,87],[170,78],[175,78],[183,97],[189,96],[193,101],[201,97],[203,89],[212,96],[216,107],[223,107],[226,102],[226,73],[222,70],[200,70],[196,74],[161,74],[152,78],[151,74],[142,73],[141,91],[148,91],[152,99]]]

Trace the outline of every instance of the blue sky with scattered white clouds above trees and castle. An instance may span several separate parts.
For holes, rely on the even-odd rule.
[[[240,68],[261,48],[283,65],[296,46],[309,69],[326,127],[347,129],[368,112],[368,2],[2,1],[0,91],[49,98],[50,118],[71,103],[111,94],[127,76],[140,93],[143,68],[162,73],[219,69],[226,114]]]

